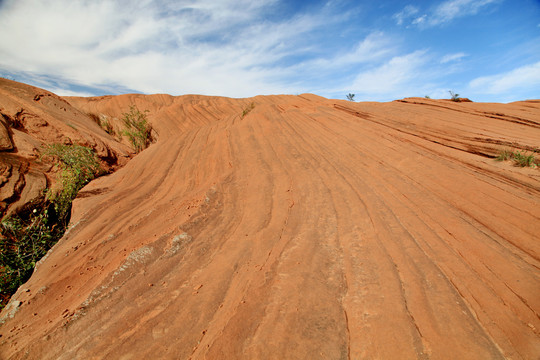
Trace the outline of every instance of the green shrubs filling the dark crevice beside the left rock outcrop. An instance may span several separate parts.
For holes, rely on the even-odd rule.
[[[101,173],[92,149],[81,145],[49,145],[43,151],[42,158],[46,157],[60,168],[57,188],[33,208],[0,222],[0,309],[63,236],[79,190]]]

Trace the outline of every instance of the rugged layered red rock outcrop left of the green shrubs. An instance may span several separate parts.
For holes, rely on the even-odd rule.
[[[131,152],[65,99],[0,78],[0,217],[43,199],[55,176],[40,155],[52,143],[93,148],[107,171]]]

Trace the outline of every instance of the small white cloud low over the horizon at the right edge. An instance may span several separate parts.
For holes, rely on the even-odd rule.
[[[519,94],[536,92],[540,94],[540,61],[517,69],[491,76],[482,76],[469,83],[471,91],[480,94]]]

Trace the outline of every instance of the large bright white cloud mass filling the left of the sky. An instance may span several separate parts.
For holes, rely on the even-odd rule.
[[[276,63],[311,51],[302,36],[331,14],[265,19],[275,1],[7,1],[0,68],[146,93],[293,92]],[[24,26],[21,26],[24,24]]]

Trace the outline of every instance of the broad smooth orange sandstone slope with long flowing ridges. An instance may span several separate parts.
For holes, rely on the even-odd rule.
[[[490,158],[540,144],[540,102],[65,99],[158,141],[82,190],[2,358],[540,353],[540,171]]]

